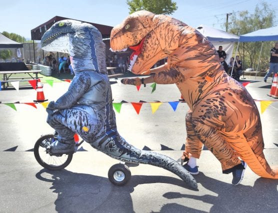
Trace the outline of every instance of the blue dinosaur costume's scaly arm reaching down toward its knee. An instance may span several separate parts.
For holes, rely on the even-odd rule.
[[[85,74],[76,75],[68,90],[54,102],[53,107],[57,109],[70,108],[86,92],[90,83],[90,78]]]

